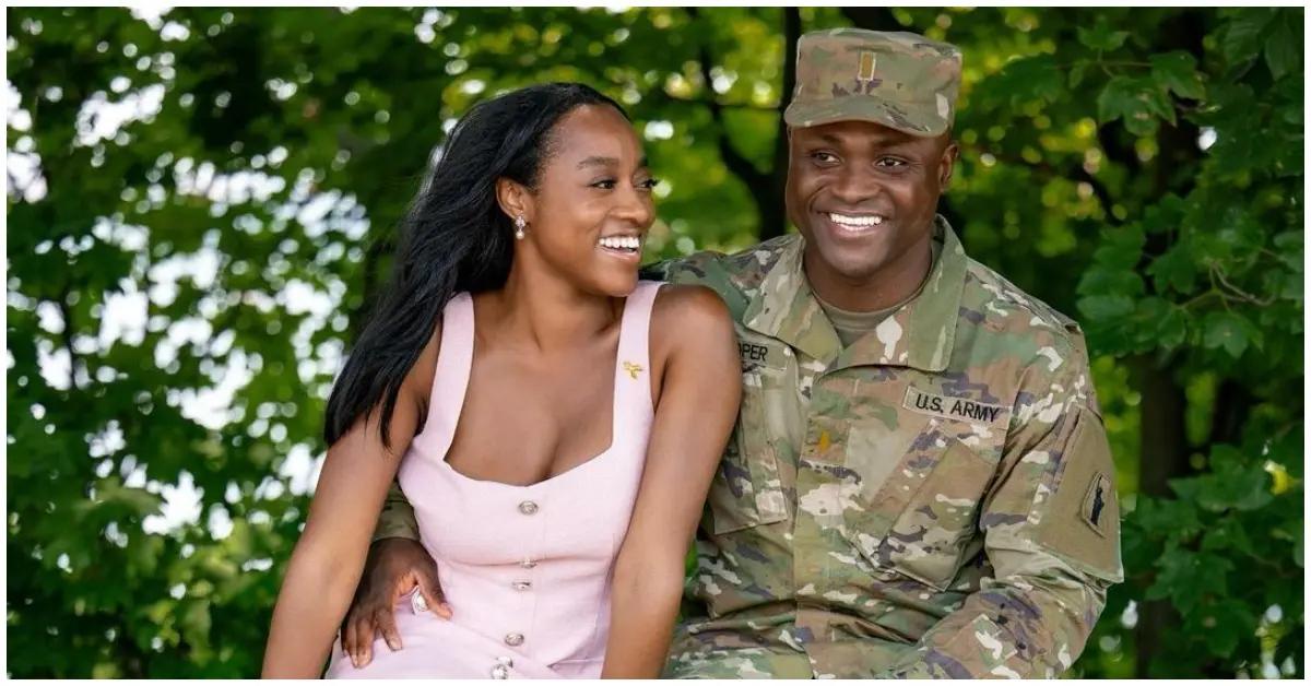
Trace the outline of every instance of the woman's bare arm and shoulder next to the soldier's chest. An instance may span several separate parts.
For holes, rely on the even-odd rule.
[[[619,557],[603,678],[656,678],[683,594],[683,561],[737,418],[737,336],[718,295],[665,286],[652,316],[665,353],[646,467]]]

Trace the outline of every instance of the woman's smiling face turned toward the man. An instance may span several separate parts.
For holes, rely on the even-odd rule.
[[[641,142],[608,105],[574,109],[551,135],[526,240],[579,290],[628,295],[656,218]]]

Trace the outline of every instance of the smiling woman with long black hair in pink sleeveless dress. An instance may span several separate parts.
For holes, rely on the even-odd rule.
[[[320,674],[393,477],[442,595],[330,677],[658,676],[741,388],[718,296],[637,279],[653,185],[585,85],[455,127],[329,397],[265,677]]]

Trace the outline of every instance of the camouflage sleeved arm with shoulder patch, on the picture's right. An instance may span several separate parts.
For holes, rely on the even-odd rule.
[[[996,577],[878,677],[1053,678],[1083,651],[1124,580],[1120,509],[1087,361],[1071,350],[1065,365],[1028,384],[979,514]]]

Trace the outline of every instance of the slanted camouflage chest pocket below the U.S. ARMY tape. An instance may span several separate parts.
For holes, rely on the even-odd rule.
[[[912,453],[872,501],[844,510],[848,539],[876,568],[947,590],[979,547],[979,508],[996,463],[956,438]]]

